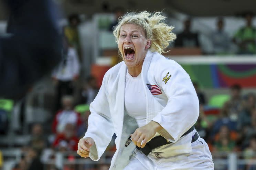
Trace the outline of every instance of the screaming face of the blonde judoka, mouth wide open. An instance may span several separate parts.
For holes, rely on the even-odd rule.
[[[128,67],[142,65],[151,40],[146,38],[143,28],[135,24],[125,24],[121,27],[118,48]]]

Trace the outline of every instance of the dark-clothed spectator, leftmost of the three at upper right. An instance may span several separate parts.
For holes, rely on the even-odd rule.
[[[184,21],[184,31],[177,35],[174,41],[175,47],[200,47],[198,33],[191,32],[192,19],[188,18]]]

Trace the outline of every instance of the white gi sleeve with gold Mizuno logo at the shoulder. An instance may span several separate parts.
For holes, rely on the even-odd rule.
[[[164,129],[158,133],[171,142],[192,127],[199,116],[199,100],[189,75],[172,60],[157,62],[154,78],[168,97],[166,107],[152,120]]]

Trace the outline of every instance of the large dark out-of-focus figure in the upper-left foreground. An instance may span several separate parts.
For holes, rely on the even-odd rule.
[[[0,37],[0,96],[17,98],[61,60],[54,4],[50,0],[5,0],[8,36]]]

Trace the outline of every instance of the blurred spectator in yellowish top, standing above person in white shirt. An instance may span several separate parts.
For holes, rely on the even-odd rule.
[[[64,34],[69,44],[76,49],[80,62],[82,62],[81,45],[79,41],[78,26],[81,23],[78,14],[70,14],[68,16],[68,25],[64,27]]]

